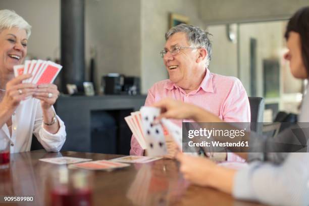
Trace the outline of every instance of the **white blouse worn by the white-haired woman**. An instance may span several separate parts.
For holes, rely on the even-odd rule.
[[[54,109],[54,108],[53,108]],[[11,138],[10,152],[29,151],[32,142],[32,134],[46,149],[46,151],[59,151],[66,140],[66,128],[58,117],[60,128],[56,134],[51,134],[43,128],[43,115],[40,100],[29,98],[21,102],[12,115],[12,135],[7,124],[0,130],[0,135]]]

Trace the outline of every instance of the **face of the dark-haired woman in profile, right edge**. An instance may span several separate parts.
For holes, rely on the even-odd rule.
[[[284,58],[290,61],[292,75],[299,79],[307,78],[306,68],[301,55],[300,35],[297,32],[290,31],[286,44],[289,51],[284,55]]]

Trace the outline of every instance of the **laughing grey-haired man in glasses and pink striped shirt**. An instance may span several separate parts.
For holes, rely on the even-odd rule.
[[[148,90],[145,106],[171,97],[211,111],[226,122],[250,122],[248,96],[239,79],[214,74],[208,69],[212,54],[208,35],[186,24],[177,25],[165,34],[161,55],[170,78],[155,83]],[[181,126],[182,121],[176,123]],[[143,155],[134,136],[130,155]],[[240,159],[228,153],[227,160]]]

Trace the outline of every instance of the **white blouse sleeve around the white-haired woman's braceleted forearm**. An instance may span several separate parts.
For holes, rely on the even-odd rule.
[[[54,107],[53,110],[55,111]],[[66,140],[67,133],[64,122],[57,115],[56,118],[60,125],[58,132],[56,134],[47,132],[43,128],[43,115],[41,105],[40,103],[37,104],[33,134],[42,144],[44,149],[46,149],[46,151],[60,151]]]

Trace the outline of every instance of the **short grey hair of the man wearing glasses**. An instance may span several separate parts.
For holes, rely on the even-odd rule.
[[[206,67],[208,67],[212,59],[212,43],[209,40],[209,36],[212,34],[196,26],[179,24],[170,28],[170,30],[165,33],[165,40],[168,40],[172,35],[178,32],[183,32],[187,35],[187,39],[191,46],[205,48],[207,50]]]

